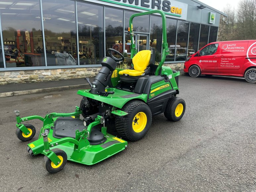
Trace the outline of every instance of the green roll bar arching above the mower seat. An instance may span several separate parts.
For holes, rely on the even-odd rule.
[[[147,12],[143,12],[143,13],[136,13],[133,14],[130,17],[130,21],[129,21],[129,27],[130,27],[130,38],[131,38],[131,58],[133,58],[133,56],[137,53],[137,49],[135,46],[135,41],[134,41],[134,33],[133,33],[133,27],[132,27],[132,21],[134,17],[138,17],[138,16],[142,16],[142,15],[149,15],[149,14],[154,14],[154,13],[159,13],[162,16],[162,26],[163,26],[163,46],[162,46],[162,59],[161,62],[159,63],[159,66],[156,69],[155,75],[159,75],[160,69],[163,66],[164,62],[165,62],[165,57],[166,55],[168,55],[170,53],[169,49],[168,49],[168,43],[167,43],[167,32],[166,32],[166,17],[165,17],[165,13],[161,10],[153,10],[153,11],[147,11]]]

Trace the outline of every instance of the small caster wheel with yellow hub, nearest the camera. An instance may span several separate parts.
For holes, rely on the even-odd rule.
[[[67,160],[68,160],[68,157],[67,157],[67,154],[61,150],[61,149],[52,149],[52,151],[57,155],[57,156],[61,156],[62,157],[62,161],[60,162],[60,166],[56,167],[54,165],[54,163],[52,163],[52,161],[47,157],[47,156],[44,156],[44,159],[43,159],[43,167],[49,172],[49,173],[57,173],[59,172],[61,169],[64,168],[64,166],[66,165],[67,163]],[[59,157],[60,158],[60,157]],[[56,168],[54,168],[56,167]]]

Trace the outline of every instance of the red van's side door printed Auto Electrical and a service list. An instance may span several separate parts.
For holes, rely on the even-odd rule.
[[[221,44],[218,73],[241,74],[248,41],[223,42]]]

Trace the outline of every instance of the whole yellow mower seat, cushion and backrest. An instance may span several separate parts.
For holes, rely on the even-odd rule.
[[[132,59],[133,70],[126,69],[119,72],[120,75],[141,76],[149,66],[151,51],[139,51]]]

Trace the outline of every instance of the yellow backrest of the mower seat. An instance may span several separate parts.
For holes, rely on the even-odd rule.
[[[149,50],[139,51],[132,58],[133,68],[137,71],[144,71],[149,65],[150,55],[151,51]]]

